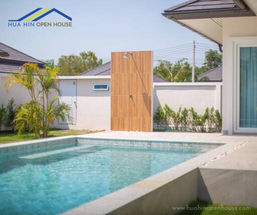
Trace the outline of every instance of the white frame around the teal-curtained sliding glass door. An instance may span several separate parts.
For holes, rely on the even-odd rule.
[[[234,132],[235,133],[256,133],[257,128],[245,128],[239,126],[240,116],[240,48],[241,47],[257,47],[257,40],[255,41],[238,41],[234,43],[234,67],[235,67],[235,80],[234,80]],[[257,105],[256,105],[257,106]],[[257,111],[257,109],[256,109]]]

